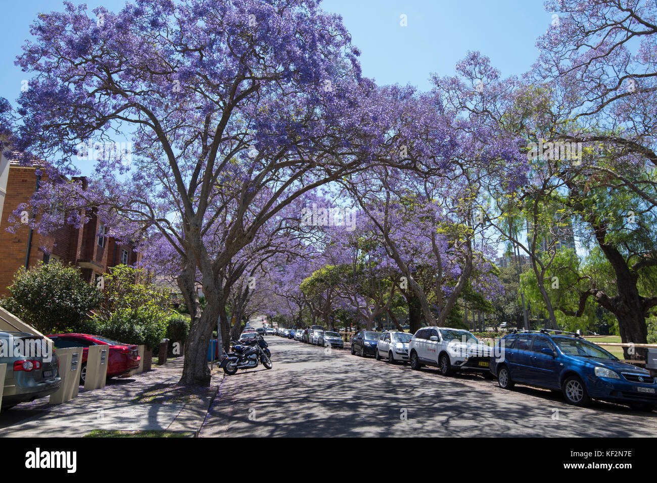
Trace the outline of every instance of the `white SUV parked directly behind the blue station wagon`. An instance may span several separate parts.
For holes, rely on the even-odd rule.
[[[474,372],[492,379],[491,347],[470,332],[449,327],[422,327],[409,342],[412,369],[436,366],[442,375]]]

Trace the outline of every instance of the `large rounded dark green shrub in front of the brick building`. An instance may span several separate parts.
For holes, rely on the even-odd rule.
[[[57,261],[21,267],[0,305],[43,333],[78,332],[102,293],[85,282],[78,268]]]

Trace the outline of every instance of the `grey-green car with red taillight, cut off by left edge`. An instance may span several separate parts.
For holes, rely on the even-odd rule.
[[[43,337],[27,332],[0,331],[0,364],[7,364],[3,409],[50,396],[62,385],[55,349],[51,353],[45,344]]]

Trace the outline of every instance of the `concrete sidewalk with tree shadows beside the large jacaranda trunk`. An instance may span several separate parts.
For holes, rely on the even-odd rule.
[[[215,368],[210,387],[184,389],[177,382],[183,358],[147,373],[111,379],[102,389],[83,391],[60,405],[49,398],[0,412],[0,436],[79,437],[95,429],[175,431],[198,434],[217,393],[223,371]]]

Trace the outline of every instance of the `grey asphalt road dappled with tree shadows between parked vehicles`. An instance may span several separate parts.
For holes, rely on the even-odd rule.
[[[273,369],[225,376],[200,436],[657,436],[655,411],[266,340]]]

